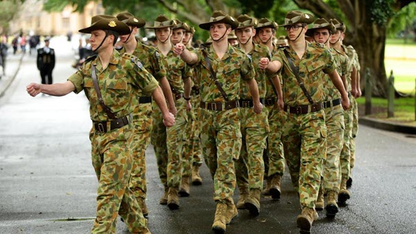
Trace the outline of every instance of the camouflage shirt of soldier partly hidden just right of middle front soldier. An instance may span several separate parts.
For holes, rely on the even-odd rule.
[[[248,53],[248,55],[251,57],[252,64],[254,66],[254,71],[256,71],[255,79],[257,81],[257,87],[259,87],[259,97],[265,98],[266,97],[266,81],[268,80],[268,75],[266,73],[266,69],[260,69],[259,61],[262,57],[268,57],[269,60],[272,57],[268,51],[267,46],[261,46],[259,44],[254,44],[254,48],[252,51]],[[246,82],[243,82],[241,80],[241,87],[240,87],[240,98],[243,100],[251,99],[250,90],[248,89],[248,85]]]

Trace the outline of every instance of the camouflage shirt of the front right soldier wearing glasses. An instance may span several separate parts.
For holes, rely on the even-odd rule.
[[[324,73],[332,73],[335,69],[335,62],[331,53],[322,44],[306,43],[306,51],[302,58],[297,57],[291,47],[286,48],[294,66],[299,67],[300,80],[304,82],[306,90],[311,95],[313,102],[318,103],[324,100],[322,83],[325,79]],[[300,88],[291,66],[288,64],[284,49],[273,55],[272,61],[281,62],[280,77],[283,81],[283,96],[286,105],[299,106],[310,105],[308,98]],[[323,71],[323,72],[322,72]]]

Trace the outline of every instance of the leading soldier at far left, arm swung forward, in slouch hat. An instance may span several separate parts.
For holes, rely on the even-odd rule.
[[[150,233],[135,196],[128,187],[132,170],[130,146],[134,127],[131,114],[134,109],[134,89],[152,95],[164,113],[164,123],[175,122],[169,113],[162,90],[135,56],[114,50],[119,34],[130,33],[126,24],[107,15],[92,17],[92,25],[79,30],[91,33],[89,42],[98,57],[89,57],[67,82],[59,84],[29,84],[31,96],[46,93],[64,96],[71,91],[85,94],[90,102],[89,113],[94,127],[89,138],[92,143],[92,164],[98,177],[97,212],[92,233],[116,233],[117,214],[123,217],[132,233]],[[94,79],[98,84],[94,89]],[[101,93],[101,94],[98,94]],[[102,95],[101,98],[98,96]]]

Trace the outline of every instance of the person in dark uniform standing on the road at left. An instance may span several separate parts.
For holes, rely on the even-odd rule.
[[[55,51],[53,48],[49,48],[49,38],[46,38],[44,48],[37,49],[37,69],[40,71],[42,84],[52,84],[52,71],[54,67]]]

